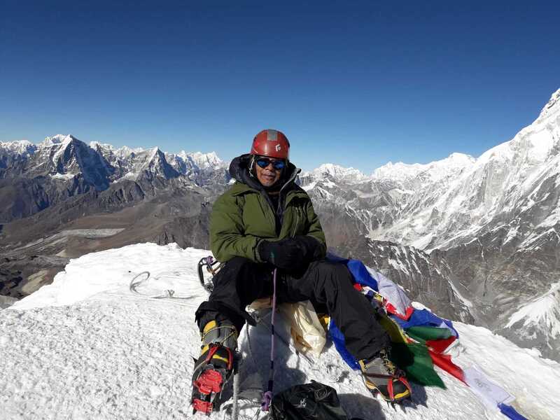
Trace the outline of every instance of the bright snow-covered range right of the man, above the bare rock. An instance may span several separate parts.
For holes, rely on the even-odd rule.
[[[559,97],[560,90],[532,125],[477,159],[453,153],[427,165],[388,163],[371,176],[323,165],[302,174],[302,186],[353,211],[369,207],[370,237],[427,250],[464,244],[535,214],[546,230],[557,220],[558,202],[549,193],[560,185]]]

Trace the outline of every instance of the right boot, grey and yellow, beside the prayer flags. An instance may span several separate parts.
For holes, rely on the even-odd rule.
[[[383,349],[369,360],[360,360],[362,378],[373,395],[379,393],[388,402],[400,402],[412,394],[405,372],[399,370]]]

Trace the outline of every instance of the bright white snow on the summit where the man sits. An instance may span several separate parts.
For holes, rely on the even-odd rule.
[[[190,407],[190,375],[199,351],[194,323],[207,297],[196,263],[209,251],[176,244],[135,244],[71,260],[49,286],[0,311],[1,419],[196,419]],[[137,290],[146,295],[175,290],[182,299],[148,299],[130,292],[134,275],[151,277]],[[429,306],[429,302],[425,302]],[[279,316],[279,334],[287,329]],[[540,384],[560,386],[560,365],[538,351],[519,349],[489,330],[456,323],[461,344],[454,360],[472,364],[517,397],[531,419],[554,419],[560,394],[540,398]],[[255,419],[255,403],[267,379],[269,332],[244,329],[239,340],[241,419]],[[447,386],[414,386],[413,402],[393,410],[371,398],[358,373],[334,346],[320,358],[277,349],[276,391],[311,379],[333,386],[351,416],[363,419],[503,419],[460,381],[440,371]],[[227,419],[228,402],[211,419]],[[263,416],[258,416],[262,419]]]

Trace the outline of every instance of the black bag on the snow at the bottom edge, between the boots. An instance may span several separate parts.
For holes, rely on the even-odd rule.
[[[274,395],[270,415],[272,420],[349,420],[340,407],[337,391],[317,381]]]

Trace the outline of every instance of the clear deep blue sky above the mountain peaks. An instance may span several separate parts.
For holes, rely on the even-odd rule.
[[[230,159],[269,127],[371,172],[479,156],[560,87],[560,1],[92,3],[0,3],[0,140]]]

